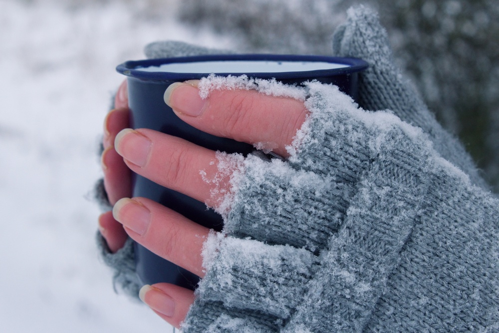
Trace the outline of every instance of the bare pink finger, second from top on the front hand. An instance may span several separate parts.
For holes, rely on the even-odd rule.
[[[212,207],[229,187],[229,170],[216,183],[205,176],[217,174],[216,153],[181,138],[149,129],[125,129],[117,135],[115,146],[132,171]],[[214,187],[218,195],[212,193]]]

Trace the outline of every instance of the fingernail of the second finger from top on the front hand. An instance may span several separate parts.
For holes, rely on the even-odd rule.
[[[139,167],[146,165],[151,144],[149,138],[130,128],[120,131],[114,140],[118,154]]]

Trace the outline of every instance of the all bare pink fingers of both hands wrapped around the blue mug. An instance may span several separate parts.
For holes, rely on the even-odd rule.
[[[172,84],[166,102],[190,125],[217,136],[250,144],[264,142],[280,156],[289,146],[308,111],[303,102],[251,90],[217,90],[199,96],[195,81]],[[102,169],[112,212],[99,217],[99,230],[109,249],[121,249],[130,236],[162,258],[203,278],[201,251],[209,229],[145,198],[132,198],[130,170],[196,200],[214,205],[218,171],[216,152],[183,139],[148,129],[131,130],[126,81],[118,89],[115,109],[104,122]],[[205,178],[206,179],[206,178]],[[230,190],[230,177],[218,183]],[[217,191],[221,193],[223,191]],[[194,302],[190,290],[166,283],[145,286],[140,298],[159,316],[179,327]]]

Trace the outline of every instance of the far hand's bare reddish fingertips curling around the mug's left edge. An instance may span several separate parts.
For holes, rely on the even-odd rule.
[[[124,81],[116,93],[115,108],[104,120],[104,137],[102,153],[102,170],[104,172],[104,187],[111,205],[131,194],[130,169],[123,162],[123,158],[114,149],[116,134],[123,128],[129,127],[129,109],[127,84]],[[111,212],[99,216],[99,230],[107,242],[112,253],[123,247],[127,234],[123,226],[118,223]]]

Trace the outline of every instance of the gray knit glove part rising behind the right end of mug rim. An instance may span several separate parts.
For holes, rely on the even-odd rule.
[[[358,100],[363,109],[391,110],[403,121],[422,128],[443,158],[466,172],[474,184],[488,188],[463,145],[442,128],[395,66],[388,35],[376,12],[364,6],[350,8],[346,23],[334,33],[333,53],[369,62],[369,68],[359,78]]]

